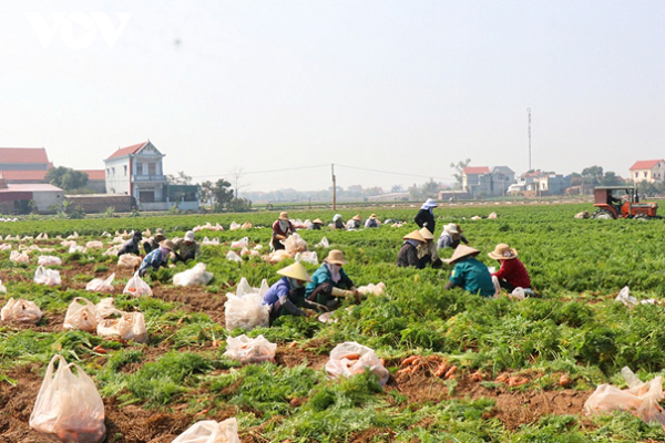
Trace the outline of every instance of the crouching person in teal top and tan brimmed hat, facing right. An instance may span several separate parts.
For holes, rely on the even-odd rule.
[[[311,275],[311,280],[305,288],[305,297],[328,309],[335,309],[339,305],[339,300],[332,297],[356,297],[356,286],[341,268],[347,262],[341,250],[330,250],[324,264]]]

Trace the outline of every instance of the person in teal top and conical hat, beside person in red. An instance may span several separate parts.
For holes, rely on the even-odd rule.
[[[471,293],[480,293],[482,297],[492,297],[495,292],[492,276],[487,266],[475,259],[480,250],[470,248],[466,245],[457,247],[452,257],[443,260],[449,265],[454,265],[450,274],[450,281],[443,289],[460,287]]]

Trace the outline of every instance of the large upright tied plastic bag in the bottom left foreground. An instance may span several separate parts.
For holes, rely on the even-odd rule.
[[[104,440],[104,403],[81,367],[68,364],[59,354],[51,359],[30,414],[30,427],[63,443]]]

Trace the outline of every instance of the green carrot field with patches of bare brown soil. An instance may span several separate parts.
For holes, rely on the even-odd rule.
[[[416,228],[415,209],[372,209],[379,219],[405,220],[400,228],[382,226],[359,231],[300,230],[319,260],[330,248],[341,249],[345,270],[357,286],[378,284],[387,295],[346,303],[337,322],[316,317],[282,317],[272,328],[257,328],[277,343],[275,363],[242,367],[222,354],[226,336],[245,331],[225,328],[224,302],[242,277],[253,287],[277,281],[278,269],[260,257],[226,259],[231,243],[247,236],[266,254],[269,226],[278,213],[207,216],[131,217],[83,220],[39,220],[0,224],[0,235],[19,237],[48,233],[48,240],[1,240],[54,248],[63,264],[51,266],[62,285],[35,285],[37,257],[30,264],[9,260],[0,250],[0,280],[10,297],[34,301],[44,312],[37,326],[0,324],[0,442],[48,442],[28,421],[55,353],[78,362],[94,380],[104,401],[108,442],[172,442],[200,420],[238,420],[243,442],[662,442],[663,426],[647,424],[628,412],[587,416],[586,399],[598,384],[626,384],[620,373],[631,368],[643,381],[665,374],[665,237],[663,220],[589,220],[573,215],[591,205],[450,207],[434,210],[438,236],[447,223],[458,223],[478,257],[497,266],[487,253],[499,243],[518,249],[542,298],[483,299],[459,289],[443,291],[450,267],[405,269],[395,265],[401,237]],[[484,219],[497,212],[497,219]],[[355,212],[341,212],[344,219]],[[360,209],[366,219],[370,210]],[[294,212],[291,218],[320,217],[330,212]],[[472,216],[481,220],[471,220]],[[202,262],[214,278],[202,287],[175,287],[173,276],[194,266],[178,264],[149,274],[153,297],[121,295],[132,277],[117,268],[104,249],[69,254],[57,235],[74,231],[79,245],[111,240],[103,231],[157,227],[166,237],[182,237],[206,222],[226,230],[200,230],[219,238],[203,246]],[[248,230],[228,230],[232,222],[249,222]],[[315,247],[323,237],[330,248]],[[447,253],[449,257],[452,251]],[[311,274],[316,265],[304,264]],[[139,344],[70,331],[62,327],[75,297],[96,303],[106,297],[85,291],[93,278],[115,272],[115,306],[144,313],[150,342]],[[614,298],[628,286],[634,308]],[[326,378],[324,365],[338,343],[357,341],[385,359],[391,377],[385,387],[372,373],[342,381]],[[295,342],[295,346],[293,344]],[[218,346],[217,346],[218,344]],[[422,356],[413,372],[398,372],[411,356]],[[440,362],[456,365],[454,378],[436,377]],[[525,383],[509,385],[508,378]],[[562,380],[567,382],[562,383]],[[565,385],[562,385],[565,384]]]

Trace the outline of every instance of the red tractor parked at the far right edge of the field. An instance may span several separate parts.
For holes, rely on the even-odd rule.
[[[621,197],[618,197],[621,195]],[[640,203],[635,186],[597,186],[593,190],[594,205],[598,209],[591,218],[635,218],[647,220],[656,217],[657,203]]]

